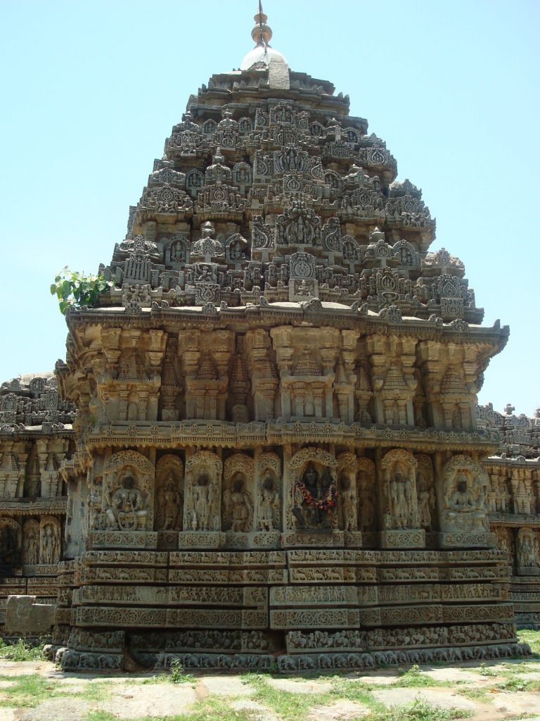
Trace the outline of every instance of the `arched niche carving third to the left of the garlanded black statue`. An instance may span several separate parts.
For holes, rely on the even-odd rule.
[[[184,531],[220,531],[222,462],[211,451],[186,460]]]

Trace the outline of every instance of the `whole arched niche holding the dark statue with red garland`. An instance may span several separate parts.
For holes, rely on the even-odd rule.
[[[289,528],[336,528],[337,467],[336,458],[322,448],[302,448],[292,456]]]

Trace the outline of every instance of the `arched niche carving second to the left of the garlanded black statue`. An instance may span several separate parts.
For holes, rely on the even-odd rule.
[[[237,453],[225,461],[221,523],[223,531],[247,533],[253,529],[255,463]]]

